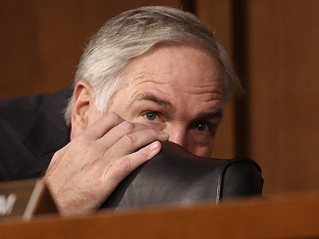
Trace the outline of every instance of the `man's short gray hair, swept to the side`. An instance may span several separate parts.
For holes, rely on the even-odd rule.
[[[223,74],[223,103],[240,88],[225,49],[192,13],[165,6],[145,6],[108,20],[92,37],[80,59],[74,85],[88,82],[98,112],[105,113],[107,102],[118,90],[121,74],[130,60],[159,43],[194,44],[215,57]],[[71,121],[73,98],[65,111]]]

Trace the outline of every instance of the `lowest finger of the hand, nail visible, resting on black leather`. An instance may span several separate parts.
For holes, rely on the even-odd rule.
[[[117,160],[104,174],[104,182],[109,186],[109,193],[113,192],[118,184],[137,167],[157,155],[160,149],[160,142],[155,141]]]

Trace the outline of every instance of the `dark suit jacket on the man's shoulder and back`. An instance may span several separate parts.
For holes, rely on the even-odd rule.
[[[70,141],[63,110],[71,87],[55,94],[0,100],[0,181],[40,177]]]

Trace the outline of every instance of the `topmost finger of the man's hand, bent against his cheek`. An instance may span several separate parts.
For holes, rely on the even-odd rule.
[[[118,114],[109,112],[106,115],[103,115],[96,122],[92,123],[92,125],[83,131],[82,135],[87,139],[99,139],[123,121],[125,120],[122,119]]]

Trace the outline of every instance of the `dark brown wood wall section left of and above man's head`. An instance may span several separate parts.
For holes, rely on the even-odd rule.
[[[72,83],[89,37],[112,16],[179,0],[0,0],[0,99]]]

